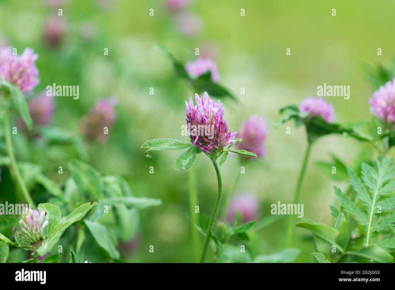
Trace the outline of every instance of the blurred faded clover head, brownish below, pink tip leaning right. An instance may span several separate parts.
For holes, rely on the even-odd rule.
[[[85,137],[103,142],[108,135],[104,127],[111,127],[115,121],[114,107],[118,103],[115,97],[99,100],[81,122],[81,131]]]

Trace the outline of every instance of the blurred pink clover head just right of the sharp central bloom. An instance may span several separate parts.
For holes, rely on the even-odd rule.
[[[236,143],[236,146],[239,149],[255,153],[258,157],[263,157],[265,155],[265,147],[263,147],[263,144],[268,133],[269,128],[266,119],[257,115],[252,115],[241,125],[241,133],[239,133],[237,137],[243,140]],[[251,158],[249,156],[245,157]]]

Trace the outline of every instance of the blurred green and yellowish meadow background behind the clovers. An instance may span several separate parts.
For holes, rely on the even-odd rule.
[[[171,61],[158,45],[184,62],[196,58],[195,48],[213,57],[221,84],[240,100],[224,100],[224,117],[231,131],[239,130],[251,114],[264,116],[271,124],[264,165],[249,164],[236,189],[237,193],[258,196],[261,217],[270,214],[272,203],[291,202],[307,145],[302,127],[295,129],[292,123],[272,125],[278,121],[278,109],[299,105],[308,95],[316,95],[316,87],[326,82],[350,86],[349,100],[325,97],[335,108],[336,122],[370,119],[373,88],[363,68],[388,64],[395,47],[393,27],[389,25],[395,8],[391,0],[195,0],[182,11],[191,13],[199,24],[188,35],[177,22],[180,11],[169,11],[165,2],[0,0],[0,39],[19,53],[31,47],[39,55],[36,64],[40,84],[34,92],[53,83],[80,87],[78,100],[55,97],[54,125],[77,131],[81,118],[98,99],[118,97],[117,120],[107,142],[86,142],[85,148],[88,163],[102,174],[121,175],[134,195],[163,201],[162,206],[140,212],[138,246],[130,258],[135,262],[192,260],[188,173],[174,170],[180,152],[153,152],[147,159],[140,148],[145,140],[153,138],[188,141],[181,136],[184,101],[195,92],[177,78]],[[45,28],[49,19],[60,18],[58,8],[63,9],[66,29],[60,44],[51,47],[45,42]],[[154,9],[153,17],[149,16],[150,8]],[[240,16],[241,8],[245,9],[244,17]],[[333,8],[336,16],[331,15]],[[108,56],[103,55],[105,48]],[[286,48],[291,49],[290,56],[286,56]],[[382,49],[381,56],[377,55],[378,48]],[[154,95],[149,94],[151,87]],[[245,95],[240,94],[242,87]],[[288,126],[290,135],[285,133]],[[40,143],[23,143],[22,139],[17,158],[44,165],[48,176],[64,183],[67,174],[56,174],[58,164],[77,158],[75,149],[51,146],[43,150]],[[330,223],[333,185],[345,187],[329,180],[314,163],[330,160],[329,154],[336,153],[352,165],[362,150],[371,149],[340,136],[321,138],[314,145],[300,199],[305,217]],[[154,174],[149,174],[150,166]],[[197,156],[195,166],[200,216],[207,226],[216,199],[216,177],[203,154]],[[231,156],[222,167],[225,193],[239,170],[237,159]],[[3,172],[3,186],[7,182],[7,172]],[[285,231],[286,219],[281,219],[252,233],[251,243],[257,253],[273,253],[284,248]],[[297,262],[313,262],[311,237],[309,232],[295,228],[293,246],[302,250]],[[155,245],[154,253],[149,253],[149,245]]]

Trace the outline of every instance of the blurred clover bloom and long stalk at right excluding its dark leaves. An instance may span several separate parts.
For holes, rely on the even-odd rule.
[[[332,122],[335,119],[333,106],[325,102],[322,98],[307,97],[301,102],[299,110],[301,112],[310,112],[310,117],[317,115],[322,116],[322,118],[324,118],[326,122]],[[305,156],[303,157],[302,168],[299,172],[299,177],[296,183],[295,195],[293,197],[294,204],[297,204],[299,201],[303,179],[305,178],[306,174],[308,158],[310,157],[311,145],[312,142],[309,140]],[[290,215],[288,218],[288,230],[286,238],[287,247],[290,247],[292,243],[293,218],[293,215]]]

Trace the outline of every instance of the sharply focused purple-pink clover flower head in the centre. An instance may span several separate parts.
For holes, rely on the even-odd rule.
[[[204,92],[203,99],[195,94],[196,105],[190,98],[186,105],[186,123],[191,142],[201,151],[216,156],[222,148],[234,142],[237,132],[228,132],[221,102],[215,103]]]

